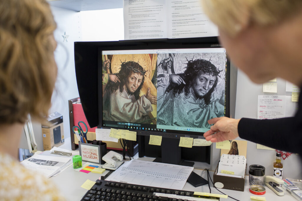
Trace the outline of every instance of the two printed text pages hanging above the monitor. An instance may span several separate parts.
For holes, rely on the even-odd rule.
[[[218,36],[199,0],[124,0],[124,38]]]

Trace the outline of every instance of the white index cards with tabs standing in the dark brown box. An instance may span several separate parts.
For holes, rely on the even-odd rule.
[[[246,158],[244,155],[222,154],[218,165],[217,175],[244,178]]]

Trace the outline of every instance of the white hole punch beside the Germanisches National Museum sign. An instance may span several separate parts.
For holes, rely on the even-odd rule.
[[[109,151],[102,157],[102,160],[106,162],[102,166],[102,168],[109,170],[116,170],[118,167],[120,167],[120,165],[124,163],[123,155],[114,151]]]

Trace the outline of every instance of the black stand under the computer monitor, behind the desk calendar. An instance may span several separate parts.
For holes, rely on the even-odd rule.
[[[162,157],[154,159],[153,162],[193,167],[194,162],[189,162],[181,159],[181,147],[179,146],[179,139],[163,137],[161,149]]]

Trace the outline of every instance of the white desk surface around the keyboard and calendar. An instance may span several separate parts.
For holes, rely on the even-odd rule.
[[[60,146],[60,148],[63,149],[68,149],[66,147]],[[69,148],[70,150],[70,148]],[[81,200],[82,197],[85,195],[87,192],[86,189],[81,188],[81,185],[87,180],[91,181],[96,181],[99,177],[102,175],[107,174],[107,170],[103,174],[95,174],[95,173],[83,173],[83,172],[78,172],[74,171],[73,167],[70,166],[68,167],[65,171],[61,172],[60,174],[56,175],[55,177],[50,177],[50,180],[55,182],[58,186],[58,188],[63,192],[63,194],[66,196],[68,200]],[[198,175],[201,175],[204,179],[207,180],[207,171],[204,170],[198,170],[194,169],[194,172],[197,173]],[[210,171],[211,178],[213,180],[213,171]],[[217,191],[214,187],[213,184],[210,182],[210,187],[212,193],[217,193],[217,194],[222,194],[219,191]],[[266,193],[264,195],[261,195],[261,197],[265,197],[267,201],[291,201],[291,200],[296,200],[293,196],[291,196],[287,191],[284,190],[284,196],[278,196],[276,195],[271,189],[268,187],[265,187]],[[188,191],[197,191],[197,192],[207,192],[210,193],[208,185],[200,186],[200,187],[193,187],[191,184],[186,183],[184,188],[182,190],[188,190]],[[246,176],[245,180],[245,189],[244,191],[236,191],[236,190],[226,190],[226,189],[219,189],[223,193],[238,199],[238,200],[251,200],[250,196],[257,196],[249,192],[249,177]],[[221,201],[229,201],[229,200],[234,200],[228,197],[227,199],[220,199]]]

